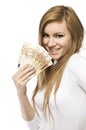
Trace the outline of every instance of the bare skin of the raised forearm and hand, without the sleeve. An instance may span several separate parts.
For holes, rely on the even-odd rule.
[[[25,120],[32,120],[35,116],[35,112],[27,97],[26,84],[30,80],[30,77],[35,73],[35,69],[32,66],[25,65],[20,68],[19,71],[12,77],[19,98],[22,116]]]

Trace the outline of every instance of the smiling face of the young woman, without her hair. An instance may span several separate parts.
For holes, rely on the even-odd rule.
[[[67,29],[65,20],[62,22],[51,22],[45,26],[43,45],[52,59],[57,60],[71,49],[71,34]]]

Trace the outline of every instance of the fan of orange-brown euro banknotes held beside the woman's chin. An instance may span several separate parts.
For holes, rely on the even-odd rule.
[[[35,67],[36,74],[39,74],[53,63],[49,53],[42,46],[33,47],[30,43],[24,43],[18,60],[18,68],[25,64]]]

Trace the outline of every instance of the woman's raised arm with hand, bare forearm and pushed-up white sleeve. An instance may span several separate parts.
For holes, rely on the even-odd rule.
[[[28,128],[31,130],[51,130],[50,124],[47,123],[43,117],[39,117],[35,113],[27,97],[26,84],[33,74],[35,74],[35,69],[32,66],[26,65],[19,69],[12,77],[17,89],[22,116],[25,119]]]

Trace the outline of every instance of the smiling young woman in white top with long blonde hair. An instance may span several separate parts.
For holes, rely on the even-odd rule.
[[[71,7],[55,6],[43,15],[39,44],[53,65],[37,76],[33,105],[26,84],[34,67],[25,65],[12,77],[30,130],[86,130],[86,58],[79,53],[83,37],[82,23]]]

